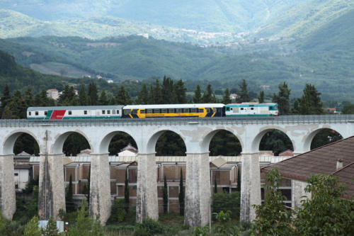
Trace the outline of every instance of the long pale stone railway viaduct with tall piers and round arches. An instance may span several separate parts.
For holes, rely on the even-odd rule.
[[[139,150],[137,176],[137,222],[158,218],[155,145],[160,135],[171,130],[185,142],[185,224],[209,223],[210,169],[209,145],[219,130],[233,133],[242,152],[240,219],[256,217],[253,204],[261,204],[259,144],[269,130],[285,133],[294,153],[310,150],[312,138],[324,128],[342,137],[354,135],[354,116],[281,116],[275,118],[169,118],[142,120],[0,120],[0,197],[2,214],[11,219],[16,210],[13,178],[13,145],[28,133],[40,147],[40,219],[57,218],[65,209],[62,148],[71,133],[86,137],[91,146],[90,213],[105,223],[110,215],[110,169],[108,145],[118,133],[134,138]]]

